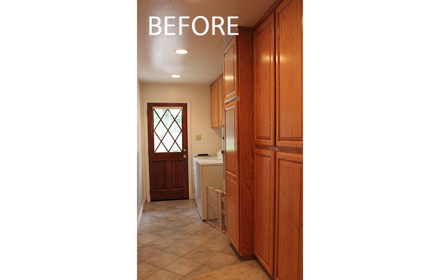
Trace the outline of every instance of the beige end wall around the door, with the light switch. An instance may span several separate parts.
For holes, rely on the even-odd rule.
[[[216,155],[217,151],[221,149],[222,135],[221,128],[211,128],[210,115],[210,91],[209,85],[176,85],[176,84],[140,84],[140,103],[142,108],[141,123],[142,123],[142,137],[144,138],[144,116],[145,109],[143,108],[145,99],[151,100],[189,100],[190,101],[190,131],[188,131],[188,142],[190,140],[191,154],[188,156],[188,167],[192,174],[192,157],[197,153],[209,153]],[[188,123],[189,124],[189,123]],[[201,135],[201,141],[195,140],[195,135]],[[146,139],[142,138],[142,149],[145,151],[147,145]],[[144,153],[145,154],[145,153]],[[148,178],[148,158],[143,157],[144,183],[146,196],[149,200],[149,178]],[[190,177],[190,179],[192,176]],[[189,183],[192,188],[192,181]],[[192,190],[192,193],[193,190]]]

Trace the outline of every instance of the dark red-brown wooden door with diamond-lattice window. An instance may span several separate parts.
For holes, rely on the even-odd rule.
[[[150,197],[189,198],[186,103],[148,103]]]

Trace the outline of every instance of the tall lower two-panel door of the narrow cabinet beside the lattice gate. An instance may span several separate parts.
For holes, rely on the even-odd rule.
[[[224,167],[226,172],[226,233],[237,251],[240,252],[237,102],[235,100],[225,105]]]

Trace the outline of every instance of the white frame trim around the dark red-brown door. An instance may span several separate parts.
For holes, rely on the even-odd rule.
[[[186,117],[187,117],[187,126],[188,126],[188,191],[189,191],[189,199],[192,199],[192,157],[191,157],[191,100],[175,100],[175,99],[143,99],[143,140],[142,144],[144,146],[144,158],[145,164],[143,171],[145,172],[145,176],[143,176],[143,185],[145,186],[146,193],[146,201],[150,202],[151,197],[149,195],[149,162],[148,162],[148,118],[146,116],[146,108],[147,103],[186,103]],[[146,128],[146,129],[145,129]],[[148,180],[146,179],[148,177]]]

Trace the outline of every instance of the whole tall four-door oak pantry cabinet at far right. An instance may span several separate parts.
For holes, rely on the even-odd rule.
[[[302,279],[302,0],[283,0],[254,42],[254,254]]]

